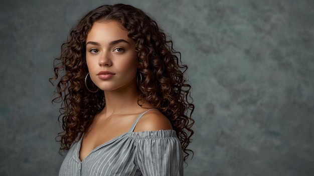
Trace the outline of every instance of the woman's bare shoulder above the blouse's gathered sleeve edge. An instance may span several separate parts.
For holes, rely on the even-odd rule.
[[[170,120],[159,110],[149,110],[137,122],[134,132],[173,129]]]

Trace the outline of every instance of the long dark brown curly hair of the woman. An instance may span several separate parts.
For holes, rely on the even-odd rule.
[[[173,48],[173,41],[142,10],[126,4],[102,5],[81,18],[70,30],[69,38],[61,46],[61,55],[54,60],[54,77],[57,81],[53,102],[61,102],[59,109],[63,131],[58,133],[60,150],[68,150],[91,125],[94,116],[105,106],[103,91],[91,93],[83,84],[88,68],[85,60],[87,34],[96,21],[117,21],[127,31],[138,52],[138,100],[148,102],[168,119],[181,141],[185,153],[194,131],[191,85],[184,73],[188,66],[181,61],[181,53]],[[90,89],[97,89],[96,85]]]

